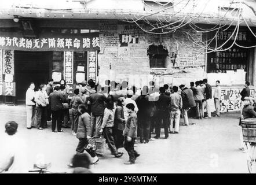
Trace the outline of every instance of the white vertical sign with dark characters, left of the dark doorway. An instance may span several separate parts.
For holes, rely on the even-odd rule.
[[[3,75],[14,75],[14,51],[3,50]]]

